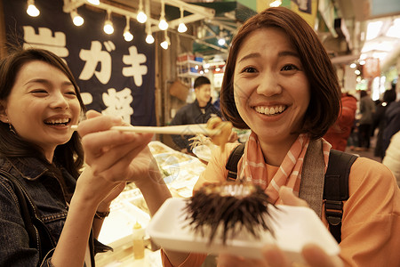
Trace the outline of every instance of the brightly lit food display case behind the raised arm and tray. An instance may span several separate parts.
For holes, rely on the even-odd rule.
[[[156,159],[164,182],[173,198],[189,198],[193,187],[204,171],[205,165],[198,158],[166,146],[162,142],[153,141],[148,147]],[[160,251],[149,249],[150,240],[145,249],[144,259],[135,260],[132,249],[132,229],[135,223],[146,229],[150,222],[148,206],[135,184],[128,183],[124,191],[111,203],[110,214],[105,218],[100,231],[101,243],[113,247],[114,251],[96,255],[96,266],[140,266],[161,267]]]

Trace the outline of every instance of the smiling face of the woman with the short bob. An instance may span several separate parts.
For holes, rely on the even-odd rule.
[[[296,140],[310,99],[303,69],[282,30],[260,28],[244,40],[233,81],[236,109],[260,142],[290,148]],[[281,151],[268,163],[278,166],[286,155]]]

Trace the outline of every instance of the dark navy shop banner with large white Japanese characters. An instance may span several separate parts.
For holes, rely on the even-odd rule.
[[[155,46],[145,42],[144,25],[130,20],[133,40],[124,40],[126,19],[112,15],[115,31],[103,31],[104,10],[81,6],[84,25],[76,27],[62,0],[36,0],[38,17],[26,0],[3,0],[7,40],[44,48],[68,64],[88,109],[123,117],[132,125],[156,125]]]

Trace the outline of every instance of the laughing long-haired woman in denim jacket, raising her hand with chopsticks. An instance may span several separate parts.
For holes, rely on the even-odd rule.
[[[123,180],[156,170],[149,150],[143,150],[151,134],[93,133],[81,142],[71,125],[84,116],[95,124],[99,114],[85,115],[76,80],[55,54],[14,49],[0,61],[0,266],[94,266],[89,244],[124,189]],[[103,117],[101,126],[112,125],[123,121]],[[138,154],[143,160],[133,168]],[[50,232],[49,253],[40,256],[29,245],[10,175],[28,192],[36,217]]]

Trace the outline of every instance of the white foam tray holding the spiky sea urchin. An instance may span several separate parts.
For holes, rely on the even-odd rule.
[[[328,255],[338,255],[340,247],[316,213],[303,206],[269,206],[273,220],[268,226],[275,232],[275,239],[268,231],[262,232],[259,240],[250,234],[239,234],[228,239],[223,245],[221,239],[214,239],[210,245],[207,237],[190,231],[185,225],[186,214],[183,198],[169,198],[156,212],[148,224],[148,235],[164,249],[218,255],[230,253],[249,258],[260,258],[265,244],[276,243],[293,262],[302,263],[300,251],[308,243],[319,245]]]

